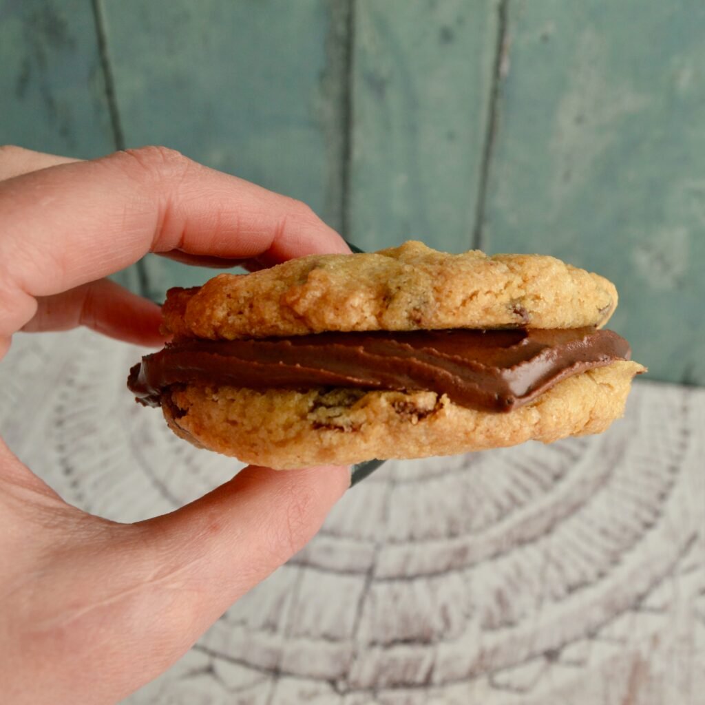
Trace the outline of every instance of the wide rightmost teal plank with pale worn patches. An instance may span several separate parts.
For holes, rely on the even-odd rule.
[[[489,249],[608,276],[651,379],[705,384],[705,4],[509,8]]]

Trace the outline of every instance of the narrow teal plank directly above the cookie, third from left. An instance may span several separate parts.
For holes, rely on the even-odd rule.
[[[362,247],[472,245],[496,9],[490,0],[355,4],[348,221]]]

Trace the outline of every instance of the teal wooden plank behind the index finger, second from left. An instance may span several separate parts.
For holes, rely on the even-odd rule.
[[[346,4],[107,0],[128,146],[161,144],[307,202],[341,225]],[[214,271],[145,260],[149,293]]]

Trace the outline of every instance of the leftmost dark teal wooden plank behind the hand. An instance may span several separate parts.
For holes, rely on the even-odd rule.
[[[0,144],[90,159],[112,152],[92,5],[0,0]],[[139,291],[134,268],[113,277]]]

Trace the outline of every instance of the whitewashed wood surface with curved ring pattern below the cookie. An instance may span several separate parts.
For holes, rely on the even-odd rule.
[[[231,477],[125,388],[138,348],[16,336],[0,431],[81,508]],[[388,462],[137,704],[705,703],[705,390],[640,381],[601,436]]]

